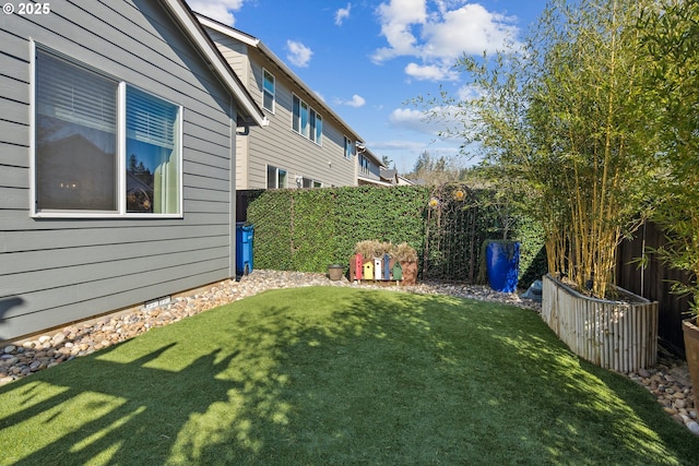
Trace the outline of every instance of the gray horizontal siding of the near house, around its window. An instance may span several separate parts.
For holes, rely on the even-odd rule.
[[[0,16],[0,340],[235,274],[229,91],[158,2],[50,9]],[[183,107],[182,218],[29,216],[29,37]]]

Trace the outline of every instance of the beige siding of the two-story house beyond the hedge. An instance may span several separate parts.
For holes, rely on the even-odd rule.
[[[354,132],[344,128],[325,111],[324,104],[296,85],[276,64],[257,48],[249,47],[211,28],[206,29],[230,67],[239,73],[248,92],[262,106],[262,70],[275,77],[274,113],[264,110],[270,120],[263,130],[252,128],[249,138],[239,142],[236,184],[238,189],[265,189],[268,165],[287,171],[289,187],[295,178],[305,177],[323,187],[356,186],[356,157],[344,157],[344,138]],[[292,130],[292,98],[297,95],[323,118],[322,145]]]

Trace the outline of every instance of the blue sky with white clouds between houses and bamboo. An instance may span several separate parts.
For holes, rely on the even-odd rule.
[[[546,0],[188,0],[189,7],[260,39],[400,174],[424,152],[459,156],[410,103],[467,89],[454,71],[463,53],[517,44]],[[392,168],[392,167],[391,167]]]

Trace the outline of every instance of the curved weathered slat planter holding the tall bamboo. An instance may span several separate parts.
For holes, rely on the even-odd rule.
[[[632,372],[657,359],[657,302],[590,298],[545,275],[542,319],[578,356],[605,369]]]

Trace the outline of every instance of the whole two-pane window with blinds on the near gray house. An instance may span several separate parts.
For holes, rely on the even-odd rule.
[[[35,70],[35,214],[181,214],[180,106],[43,48]]]

